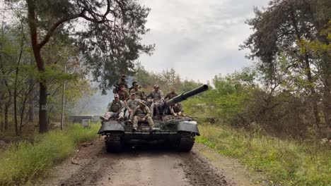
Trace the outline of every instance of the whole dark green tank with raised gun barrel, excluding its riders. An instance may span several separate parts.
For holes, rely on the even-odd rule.
[[[132,123],[126,120],[108,120],[102,122],[98,134],[105,136],[105,145],[108,152],[120,152],[124,147],[149,142],[163,142],[170,144],[178,151],[191,151],[194,145],[194,137],[199,136],[197,121],[190,116],[174,117],[169,114],[168,108],[185,99],[208,89],[208,85],[202,85],[189,92],[164,101],[156,109],[153,117],[154,125],[159,130],[151,131],[148,123],[139,123],[137,131],[132,131]]]

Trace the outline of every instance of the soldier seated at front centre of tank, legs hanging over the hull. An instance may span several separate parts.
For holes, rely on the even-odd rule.
[[[149,127],[151,128],[151,130],[156,130],[156,128],[154,127],[154,122],[151,118],[151,113],[149,112],[149,107],[146,106],[146,104],[144,104],[142,101],[140,101],[139,106],[137,106],[136,109],[132,111],[132,114],[128,122],[131,123],[132,120],[133,120],[133,128],[132,128],[133,131],[137,131],[139,121],[144,122],[146,120],[149,123]]]

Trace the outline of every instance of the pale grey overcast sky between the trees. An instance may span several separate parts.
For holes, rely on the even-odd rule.
[[[147,70],[175,68],[182,78],[207,82],[216,74],[232,73],[248,66],[248,51],[239,44],[252,33],[245,20],[253,7],[266,7],[268,0],[140,0],[151,8],[143,37],[156,44],[152,56],[139,61]]]

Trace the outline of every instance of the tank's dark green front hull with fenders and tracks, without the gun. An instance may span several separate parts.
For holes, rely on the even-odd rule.
[[[103,122],[98,134],[105,136],[108,152],[120,152],[124,147],[146,143],[166,143],[178,151],[190,151],[194,137],[199,135],[194,120],[179,120],[162,123],[156,120],[160,130],[151,131],[147,123],[141,123],[137,131],[127,122],[110,120]]]

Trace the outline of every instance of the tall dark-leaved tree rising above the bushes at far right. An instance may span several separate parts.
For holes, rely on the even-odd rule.
[[[291,91],[295,86],[298,94],[310,100],[316,125],[321,123],[319,100],[330,100],[330,53],[314,55],[305,43],[328,45],[327,37],[320,33],[330,18],[327,0],[270,1],[264,11],[255,8],[255,18],[247,21],[255,32],[240,46],[250,49],[249,58],[260,58],[259,68],[267,85]],[[277,75],[280,66],[286,78]],[[330,114],[324,112],[325,123],[331,127]]]

